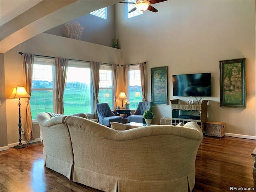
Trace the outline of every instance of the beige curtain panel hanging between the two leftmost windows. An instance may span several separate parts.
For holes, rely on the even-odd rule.
[[[63,107],[63,94],[66,86],[67,72],[68,72],[68,59],[66,58],[55,58],[56,67],[56,103],[57,113],[64,114]]]

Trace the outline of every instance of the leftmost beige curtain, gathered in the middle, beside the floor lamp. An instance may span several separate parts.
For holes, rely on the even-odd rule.
[[[33,74],[34,54],[24,53],[23,54],[23,71],[24,71],[24,84],[25,89],[29,95],[32,92],[32,74]],[[35,140],[33,132],[33,122],[30,108],[30,98],[26,98],[26,114],[24,136],[27,141]]]

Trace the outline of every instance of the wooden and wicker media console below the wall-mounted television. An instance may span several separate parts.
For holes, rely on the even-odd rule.
[[[202,100],[201,104],[180,104],[178,99],[170,100],[170,102],[172,104],[172,125],[194,121],[200,126],[202,132],[204,131],[204,123],[207,122],[208,100]],[[181,111],[199,112],[199,116],[183,115],[180,114]]]

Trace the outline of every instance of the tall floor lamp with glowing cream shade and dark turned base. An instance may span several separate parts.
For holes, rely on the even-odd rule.
[[[13,90],[12,90],[12,94],[9,98],[19,98],[19,134],[20,134],[20,143],[16,146],[14,146],[14,148],[16,149],[20,149],[20,148],[23,148],[23,147],[27,147],[26,144],[22,144],[21,142],[21,120],[20,120],[20,98],[28,98],[30,97],[30,95],[26,92],[25,88],[24,87],[14,87]]]

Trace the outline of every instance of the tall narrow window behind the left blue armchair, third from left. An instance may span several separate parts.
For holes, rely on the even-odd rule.
[[[99,103],[108,103],[111,109],[113,106],[113,83],[112,83],[112,66],[100,66],[100,87]]]

